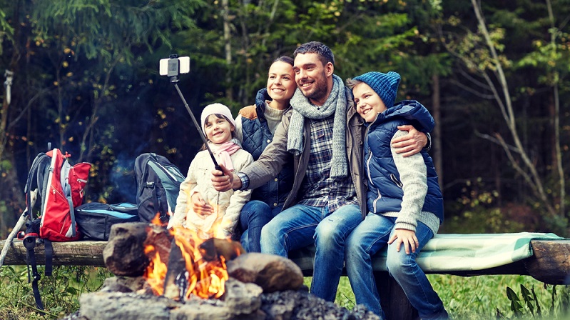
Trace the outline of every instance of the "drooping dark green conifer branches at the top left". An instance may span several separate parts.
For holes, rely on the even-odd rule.
[[[184,1],[34,1],[32,21],[36,27],[36,40],[43,41],[61,36],[75,53],[87,59],[109,61],[122,56],[131,64],[132,46],[144,45],[152,50],[157,41],[170,44],[171,26],[188,29],[194,26],[191,19],[201,0]]]

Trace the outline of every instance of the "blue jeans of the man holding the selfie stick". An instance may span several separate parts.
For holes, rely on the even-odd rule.
[[[287,256],[287,252],[315,244],[311,293],[335,301],[345,261],[345,240],[362,221],[357,205],[328,207],[297,204],[283,210],[261,229],[261,252]]]

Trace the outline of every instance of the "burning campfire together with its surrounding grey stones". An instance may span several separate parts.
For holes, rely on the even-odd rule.
[[[245,253],[230,239],[183,228],[125,223],[103,250],[115,274],[82,294],[76,319],[379,319],[309,294],[300,268],[281,256]]]

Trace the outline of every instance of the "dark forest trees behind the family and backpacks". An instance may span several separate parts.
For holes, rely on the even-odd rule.
[[[93,164],[85,201],[136,202],[144,152],[187,171],[202,142],[160,59],[190,56],[198,119],[237,115],[307,41],[342,79],[399,72],[397,100],[432,113],[441,232],[570,236],[569,21],[570,0],[0,0],[0,236],[49,142]]]

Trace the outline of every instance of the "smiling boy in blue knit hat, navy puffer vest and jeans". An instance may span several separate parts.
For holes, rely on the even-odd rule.
[[[434,121],[417,101],[394,104],[399,74],[368,72],[347,80],[358,114],[366,121],[364,165],[368,214],[348,236],[345,261],[356,303],[385,319],[373,281],[370,256],[388,246],[386,266],[422,319],[447,319],[442,300],[416,263],[443,221],[443,198],[427,151],[404,157],[390,141],[414,124],[430,131]]]

